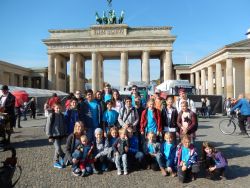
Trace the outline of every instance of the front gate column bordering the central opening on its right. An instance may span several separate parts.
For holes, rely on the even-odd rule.
[[[121,52],[120,87],[128,85],[128,52]]]

